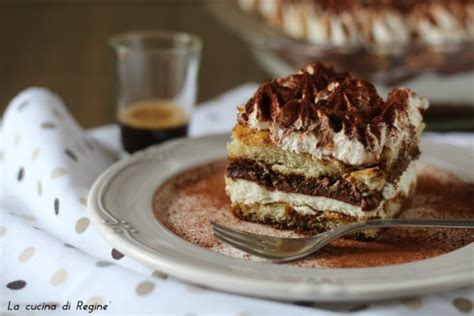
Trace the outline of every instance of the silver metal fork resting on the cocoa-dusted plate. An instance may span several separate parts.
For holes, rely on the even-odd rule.
[[[245,232],[211,222],[214,235],[221,241],[255,256],[274,262],[289,262],[304,258],[331,241],[358,230],[379,227],[444,227],[474,228],[474,220],[376,219],[344,225],[307,238],[272,237]]]

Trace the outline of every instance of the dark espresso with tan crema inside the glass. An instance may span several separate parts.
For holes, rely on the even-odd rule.
[[[150,145],[186,136],[188,117],[178,105],[160,101],[139,101],[119,115],[122,145],[133,153]]]

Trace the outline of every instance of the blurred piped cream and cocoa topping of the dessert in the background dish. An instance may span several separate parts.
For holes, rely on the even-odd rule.
[[[474,40],[474,2],[239,0],[285,34],[314,44],[431,45]]]

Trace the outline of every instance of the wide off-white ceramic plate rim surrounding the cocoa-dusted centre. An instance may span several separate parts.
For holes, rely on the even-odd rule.
[[[94,183],[89,216],[120,252],[177,278],[229,292],[282,300],[373,301],[474,284],[474,244],[413,263],[316,269],[236,259],[198,247],[154,216],[153,195],[172,175],[226,156],[228,135],[180,139],[115,163]],[[474,157],[428,140],[422,160],[474,182]]]

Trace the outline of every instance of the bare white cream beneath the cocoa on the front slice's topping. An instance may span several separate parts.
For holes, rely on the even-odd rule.
[[[333,132],[332,145],[318,146],[320,139],[316,134],[305,134],[299,131],[287,133],[284,129],[273,127],[270,122],[259,121],[256,116],[257,104],[254,111],[250,113],[247,124],[252,129],[270,130],[273,140],[283,150],[297,154],[307,153],[316,158],[333,157],[345,164],[360,166],[375,163],[384,147],[389,147],[394,157],[397,157],[401,145],[406,141],[411,141],[408,139],[411,135],[406,132],[406,126],[411,125],[415,130],[418,130],[423,121],[420,109],[427,107],[426,98],[411,94],[408,98],[408,110],[397,113],[394,122],[395,129],[388,130],[386,126],[382,126],[380,140],[374,135],[374,146],[370,150],[358,139],[347,136],[344,129],[337,133]],[[295,122],[295,126],[297,124],[298,121]],[[369,130],[370,134],[372,133]]]

